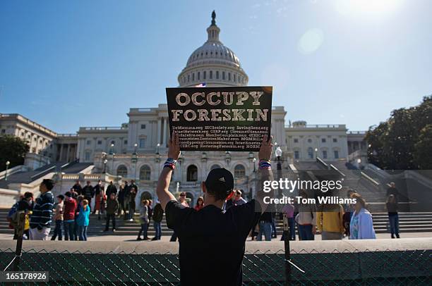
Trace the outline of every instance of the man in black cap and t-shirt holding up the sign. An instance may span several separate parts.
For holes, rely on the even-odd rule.
[[[179,135],[172,132],[168,158],[156,192],[166,213],[168,227],[179,236],[181,285],[242,284],[241,264],[246,238],[267,208],[263,202],[263,181],[273,179],[271,153],[272,138],[264,135],[258,152],[260,161],[256,199],[222,211],[224,201],[232,195],[234,178],[229,170],[215,168],[201,185],[204,208],[196,211],[181,205],[168,190],[176,160],[180,156]]]

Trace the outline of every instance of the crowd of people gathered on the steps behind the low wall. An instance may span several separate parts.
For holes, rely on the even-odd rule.
[[[397,202],[399,192],[395,183],[391,182],[387,192],[385,203],[388,209],[390,234],[392,238],[400,238],[399,216],[397,213]],[[138,186],[135,181],[124,181],[117,189],[113,182],[110,182],[106,190],[99,180],[95,186],[86,182],[82,187],[79,181],[71,187],[66,194],[54,197],[51,192],[54,187],[52,180],[43,180],[40,185],[40,197],[33,198],[31,192],[23,194],[21,199],[13,205],[8,213],[8,220],[11,228],[16,228],[16,214],[25,212],[24,237],[30,240],[47,240],[52,225],[54,232],[51,240],[87,240],[87,230],[90,223],[90,213],[97,214],[98,219],[104,215],[106,220],[104,232],[109,231],[110,224],[112,231],[116,231],[116,217],[123,217],[124,220],[133,221],[136,212],[136,194]],[[241,189],[234,189],[227,197],[223,209],[228,209],[246,204],[242,197]],[[305,190],[299,191],[299,196],[307,199],[308,193]],[[347,197],[355,198],[356,204],[345,205],[326,204],[313,206],[311,204],[287,204],[282,207],[280,213],[264,212],[258,223],[253,226],[250,232],[251,240],[270,241],[276,238],[275,220],[277,215],[286,217],[289,225],[289,240],[296,240],[296,230],[299,240],[314,240],[317,232],[321,234],[322,240],[341,240],[349,237],[350,240],[374,239],[376,238],[373,229],[371,213],[366,209],[366,201],[353,189],[348,189]],[[94,200],[92,210],[91,203]],[[179,203],[189,207],[186,193],[181,192],[178,198]],[[198,197],[193,209],[200,211],[204,207],[203,197]],[[162,236],[162,218],[164,211],[159,201],[153,206],[151,199],[141,201],[139,223],[140,230],[137,240],[150,240],[148,229],[150,220],[153,221],[155,237],[151,240],[160,240]],[[142,235],[142,237],[141,237]],[[14,239],[17,233],[15,231]],[[177,234],[174,231],[170,241],[175,242]],[[281,240],[284,240],[282,235]]]

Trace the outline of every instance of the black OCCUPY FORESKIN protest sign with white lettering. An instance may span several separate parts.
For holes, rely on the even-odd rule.
[[[258,151],[270,136],[272,87],[167,88],[182,151]]]

